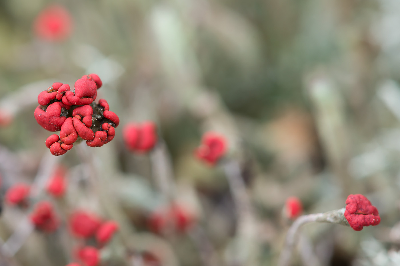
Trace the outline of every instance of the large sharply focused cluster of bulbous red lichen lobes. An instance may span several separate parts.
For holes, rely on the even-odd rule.
[[[53,134],[46,139],[52,155],[66,153],[79,139],[90,147],[101,147],[114,139],[118,115],[110,111],[105,99],[94,103],[101,85],[98,75],[90,74],[75,82],[74,91],[68,84],[55,82],[39,93],[36,121],[48,131],[60,130],[60,136]]]

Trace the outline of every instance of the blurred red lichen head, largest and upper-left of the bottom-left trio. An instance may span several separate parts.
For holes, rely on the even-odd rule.
[[[90,238],[94,236],[100,224],[100,218],[84,210],[74,212],[69,219],[69,226],[72,234],[81,238]]]

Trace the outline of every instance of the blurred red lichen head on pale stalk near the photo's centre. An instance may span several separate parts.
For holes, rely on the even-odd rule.
[[[225,153],[225,137],[214,132],[205,133],[200,147],[195,151],[196,157],[209,165],[214,165]]]

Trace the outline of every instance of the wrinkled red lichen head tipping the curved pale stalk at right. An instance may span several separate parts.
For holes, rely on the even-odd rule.
[[[348,195],[344,217],[356,231],[361,231],[363,226],[374,226],[380,223],[378,209],[361,194]]]

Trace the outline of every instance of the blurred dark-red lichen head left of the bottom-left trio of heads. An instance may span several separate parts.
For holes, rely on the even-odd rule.
[[[36,204],[35,209],[30,214],[30,220],[36,229],[44,232],[54,232],[59,224],[52,205],[47,201],[41,201]]]

